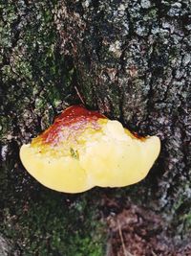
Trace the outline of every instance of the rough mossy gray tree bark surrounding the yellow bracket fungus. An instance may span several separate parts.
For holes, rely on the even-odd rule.
[[[0,232],[14,254],[191,255],[190,0],[2,1],[0,13]],[[81,101],[159,135],[144,181],[72,197],[27,175],[21,144]]]

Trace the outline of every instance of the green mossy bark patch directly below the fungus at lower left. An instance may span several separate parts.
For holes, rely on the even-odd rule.
[[[0,230],[14,251],[27,256],[104,255],[106,234],[98,221],[96,190],[75,196],[53,192],[12,164],[1,170]]]

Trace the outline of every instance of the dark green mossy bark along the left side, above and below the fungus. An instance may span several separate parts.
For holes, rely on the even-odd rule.
[[[55,8],[56,1],[0,3],[0,243],[11,244],[4,243],[5,255],[102,255],[102,225],[89,199],[46,190],[19,160],[21,144],[76,101],[73,59],[59,51]]]

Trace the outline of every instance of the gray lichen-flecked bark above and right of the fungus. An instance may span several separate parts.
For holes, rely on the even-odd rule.
[[[74,58],[86,104],[142,134],[159,135],[159,161],[141,203],[160,212],[181,244],[191,214],[189,1],[60,3],[54,17],[60,49]]]

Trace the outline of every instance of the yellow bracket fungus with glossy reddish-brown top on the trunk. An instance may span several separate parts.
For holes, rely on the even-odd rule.
[[[73,105],[32,143],[20,158],[43,185],[79,193],[95,186],[123,187],[143,179],[159,155],[157,136],[139,138],[104,115]]]

